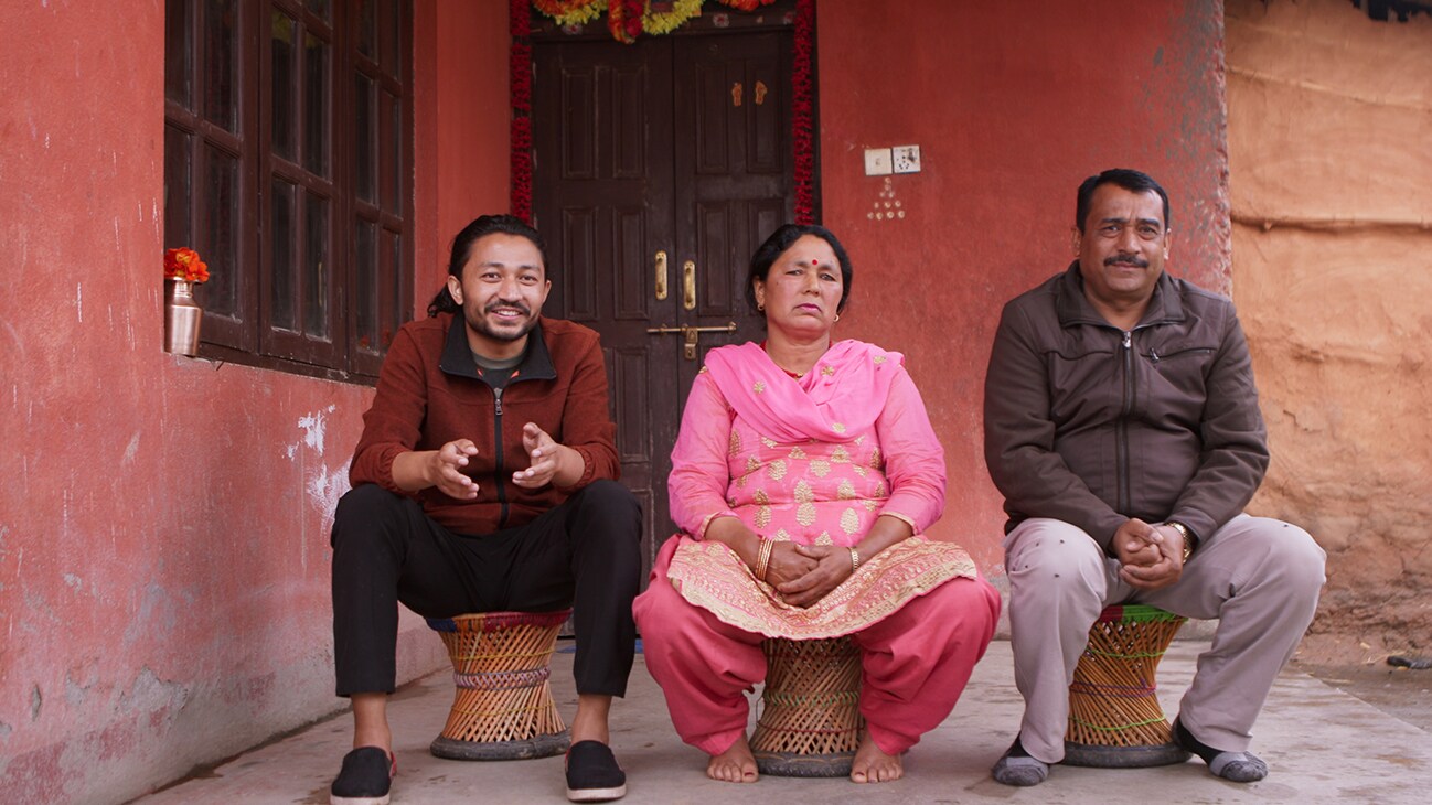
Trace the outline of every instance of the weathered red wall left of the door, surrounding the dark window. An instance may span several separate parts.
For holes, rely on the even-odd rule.
[[[14,802],[123,801],[341,705],[328,527],[371,390],[162,351],[163,23],[52,0],[0,27]],[[507,209],[505,4],[420,0],[414,27],[425,308],[455,226]],[[404,678],[445,663],[417,619],[400,656]]]

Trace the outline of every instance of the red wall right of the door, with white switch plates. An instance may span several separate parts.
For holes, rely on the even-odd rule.
[[[985,364],[1004,302],[1073,259],[1078,183],[1151,173],[1173,201],[1170,269],[1229,288],[1221,3],[816,7],[825,223],[855,262],[838,332],[905,352],[949,468],[934,533],[1002,576]],[[882,196],[863,149],[896,145],[924,169]],[[871,218],[895,201],[905,218]]]

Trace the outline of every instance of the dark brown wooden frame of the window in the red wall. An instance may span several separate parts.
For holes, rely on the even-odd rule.
[[[232,284],[232,294],[228,288],[211,291],[213,304],[206,304],[205,285],[198,288],[206,308],[199,355],[371,384],[397,327],[412,311],[412,1],[232,0],[225,9],[213,0],[168,0],[168,7],[165,245],[193,246],[211,264],[211,285],[221,281],[221,272],[228,274],[222,281]],[[219,11],[233,14],[228,20],[233,42],[228,64],[212,63],[205,53],[206,14]],[[282,93],[274,85],[274,42],[279,27],[291,32],[294,42],[285,129],[295,150],[286,155],[275,152],[279,115],[274,105]],[[365,33],[371,36],[365,39]],[[374,49],[367,53],[369,42]],[[326,49],[328,73],[318,85],[326,97],[316,117],[311,116],[312,99],[305,96],[312,86],[305,54],[315,47]],[[213,119],[205,107],[205,80],[225,70],[232,76],[236,106],[233,130],[222,115]],[[169,92],[176,85],[186,85],[188,92]],[[357,130],[359,86],[368,87],[372,112],[367,139]],[[318,140],[308,138],[312,120],[326,126]],[[305,153],[314,142],[324,143],[326,165]],[[359,153],[362,142],[369,145],[365,155]],[[367,158],[367,175],[377,180],[375,198],[359,192],[359,158]],[[235,232],[228,246],[215,242],[225,221],[221,211],[209,208],[211,193],[221,192],[215,182],[223,160],[238,163],[236,198],[228,216]],[[282,203],[275,183],[296,202],[286,248],[275,226],[275,205]],[[326,226],[308,226],[306,199],[326,209]],[[306,241],[309,233],[316,236],[315,249]],[[361,233],[374,249],[359,248]],[[371,258],[367,272],[359,256]],[[282,264],[292,269],[284,272]],[[315,299],[311,281],[324,272],[326,288],[319,285],[324,292]],[[284,289],[291,292],[282,294],[286,304],[281,305]],[[309,315],[309,307],[316,315]],[[285,318],[285,309],[294,315]],[[308,327],[312,324],[318,327]]]

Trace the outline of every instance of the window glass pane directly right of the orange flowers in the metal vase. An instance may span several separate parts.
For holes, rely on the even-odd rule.
[[[205,308],[218,315],[239,312],[239,159],[225,150],[205,146],[208,180],[203,188],[203,238],[195,248],[209,264],[209,281],[200,285]]]

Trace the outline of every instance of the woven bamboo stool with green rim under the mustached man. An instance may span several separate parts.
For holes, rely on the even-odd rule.
[[[1189,759],[1173,742],[1154,685],[1158,660],[1183,622],[1144,604],[1100,613],[1070,685],[1065,763],[1141,768]]]

